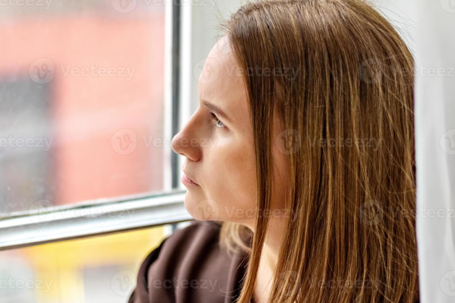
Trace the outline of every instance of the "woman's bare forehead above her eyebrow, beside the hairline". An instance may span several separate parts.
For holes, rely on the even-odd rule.
[[[223,37],[213,46],[202,69],[199,97],[225,109],[227,115],[237,113],[239,109],[248,114],[243,74],[227,38]]]

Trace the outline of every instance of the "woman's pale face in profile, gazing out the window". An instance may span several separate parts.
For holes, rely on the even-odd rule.
[[[247,91],[227,38],[210,51],[199,77],[199,106],[172,139],[172,149],[185,156],[183,172],[196,184],[182,181],[188,191],[185,207],[194,219],[242,223],[256,217],[256,164]],[[274,125],[275,137],[281,131]],[[275,140],[273,140],[274,142]],[[272,149],[278,180],[286,176],[284,154]],[[283,182],[274,190],[283,197]]]

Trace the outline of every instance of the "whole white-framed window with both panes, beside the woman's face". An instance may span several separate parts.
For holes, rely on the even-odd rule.
[[[125,302],[115,273],[191,219],[171,139],[237,2],[0,6],[0,301]]]

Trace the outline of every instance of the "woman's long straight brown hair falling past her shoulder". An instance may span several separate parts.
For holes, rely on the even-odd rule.
[[[269,302],[414,303],[414,59],[404,41],[362,0],[248,1],[221,26],[243,70],[280,71],[244,77],[259,211],[271,205],[274,111],[291,147],[293,218]],[[254,293],[267,227],[258,216],[238,303]],[[242,230],[224,223],[223,241],[239,243]]]

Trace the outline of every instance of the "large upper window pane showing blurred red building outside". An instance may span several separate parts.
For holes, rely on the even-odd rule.
[[[0,214],[163,188],[166,3],[0,2]]]

